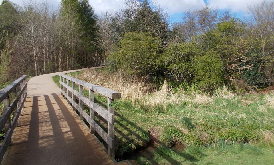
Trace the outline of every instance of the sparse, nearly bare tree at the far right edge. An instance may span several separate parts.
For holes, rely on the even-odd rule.
[[[270,70],[268,75],[272,76],[268,78],[273,81],[272,69],[269,66],[274,62],[274,1],[263,1],[258,5],[249,6],[246,22],[247,40],[260,59],[258,72]]]

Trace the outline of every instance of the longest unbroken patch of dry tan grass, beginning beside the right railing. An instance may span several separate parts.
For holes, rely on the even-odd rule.
[[[106,74],[102,71],[85,70],[79,75],[79,78],[86,82],[121,92],[123,99],[130,99],[133,103],[142,106],[142,109],[146,110],[166,110],[169,104],[179,105],[184,98],[170,91],[167,81],[164,81],[161,89],[156,91],[142,78],[134,77],[128,79],[119,73]]]

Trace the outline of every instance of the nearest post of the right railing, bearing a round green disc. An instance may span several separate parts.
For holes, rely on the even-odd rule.
[[[109,97],[108,97],[108,112],[110,112],[111,114],[114,114],[114,99],[110,99]],[[112,139],[114,140],[114,123],[111,124],[110,122],[108,122],[108,136],[112,137]],[[109,157],[115,156],[114,144],[112,147],[108,145],[108,156]]]

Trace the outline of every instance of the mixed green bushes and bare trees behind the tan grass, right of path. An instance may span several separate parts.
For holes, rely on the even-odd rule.
[[[249,6],[243,18],[206,5],[185,12],[172,28],[164,10],[149,1],[126,5],[100,20],[112,70],[209,93],[223,85],[235,90],[273,85],[273,1]]]

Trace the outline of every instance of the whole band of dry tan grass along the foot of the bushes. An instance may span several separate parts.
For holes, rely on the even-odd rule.
[[[209,104],[214,100],[214,96],[206,93],[191,95],[174,94],[168,87],[167,81],[164,81],[160,90],[155,90],[145,79],[140,77],[127,78],[121,73],[107,73],[100,70],[85,70],[79,75],[79,78],[100,85],[114,91],[121,92],[123,99],[132,100],[132,103],[145,110],[167,110],[169,105],[180,105],[184,100],[190,100],[194,96],[193,101],[197,104]],[[234,94],[227,89],[226,86],[217,89],[215,97],[231,99]]]

